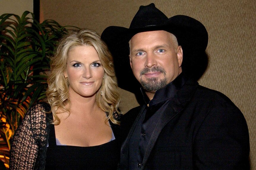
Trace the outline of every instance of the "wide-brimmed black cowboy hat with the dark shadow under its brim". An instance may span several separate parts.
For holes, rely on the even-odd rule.
[[[140,6],[129,28],[110,26],[101,35],[113,55],[120,88],[134,92],[140,86],[129,64],[128,42],[137,33],[153,30],[165,30],[176,36],[183,49],[182,72],[191,74],[192,70],[202,67],[202,61],[208,63],[205,54],[208,33],[201,22],[185,15],[168,19],[153,3]]]

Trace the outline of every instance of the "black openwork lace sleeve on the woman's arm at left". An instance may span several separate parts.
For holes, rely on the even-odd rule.
[[[40,103],[32,106],[15,131],[10,149],[10,170],[37,169],[40,164],[37,162],[40,150],[46,145],[46,113],[42,109],[45,107]]]

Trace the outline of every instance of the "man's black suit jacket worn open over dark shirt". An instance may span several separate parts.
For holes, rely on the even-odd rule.
[[[119,169],[128,169],[138,106],[121,120]],[[249,169],[249,132],[241,111],[220,92],[193,80],[180,87],[150,139],[141,169]]]

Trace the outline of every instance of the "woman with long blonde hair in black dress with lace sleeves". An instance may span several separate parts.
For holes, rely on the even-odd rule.
[[[116,169],[119,94],[112,56],[93,30],[72,31],[51,61],[47,102],[16,130],[10,169]]]

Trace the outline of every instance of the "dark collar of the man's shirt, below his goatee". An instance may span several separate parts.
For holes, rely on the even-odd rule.
[[[177,93],[181,86],[185,84],[186,80],[187,78],[181,73],[180,75],[178,75],[178,77],[176,77],[176,79],[167,84],[164,88],[157,90],[151,101],[149,100],[145,91],[140,88],[144,102],[149,105],[155,105],[161,102],[165,102],[170,98],[173,98],[173,96]]]

